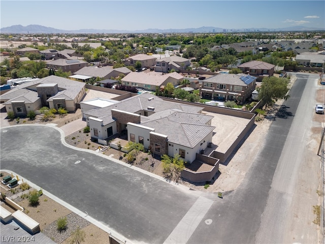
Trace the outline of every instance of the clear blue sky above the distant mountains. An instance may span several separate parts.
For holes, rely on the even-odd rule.
[[[325,1],[0,1],[1,27],[64,30],[147,28],[325,28]]]

